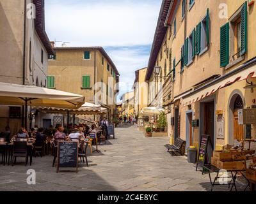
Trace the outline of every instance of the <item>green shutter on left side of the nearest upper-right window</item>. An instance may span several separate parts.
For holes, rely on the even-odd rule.
[[[229,63],[229,23],[220,28],[220,66],[225,67]]]

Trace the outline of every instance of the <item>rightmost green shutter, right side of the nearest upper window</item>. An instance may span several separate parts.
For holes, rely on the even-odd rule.
[[[247,52],[247,1],[241,10],[241,55]]]

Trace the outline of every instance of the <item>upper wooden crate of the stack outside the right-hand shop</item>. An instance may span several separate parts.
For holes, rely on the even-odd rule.
[[[228,153],[223,153],[221,151],[214,151],[213,157],[219,161],[239,161],[246,160],[246,154],[244,152],[231,151]]]

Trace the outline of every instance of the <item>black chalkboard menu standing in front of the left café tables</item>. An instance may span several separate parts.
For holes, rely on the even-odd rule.
[[[60,168],[78,168],[78,142],[58,142],[57,173]]]

